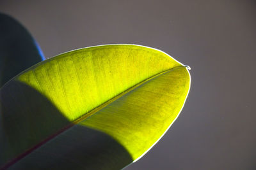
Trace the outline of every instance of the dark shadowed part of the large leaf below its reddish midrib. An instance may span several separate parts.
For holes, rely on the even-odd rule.
[[[75,125],[10,169],[122,169],[131,162],[129,153],[115,139]]]

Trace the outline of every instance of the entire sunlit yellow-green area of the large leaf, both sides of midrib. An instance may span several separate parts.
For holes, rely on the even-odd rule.
[[[114,138],[133,160],[177,118],[190,86],[186,67],[164,52],[137,45],[63,53],[14,80],[47,97],[72,124]]]

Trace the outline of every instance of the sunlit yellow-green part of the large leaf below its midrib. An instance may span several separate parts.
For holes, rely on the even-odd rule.
[[[106,132],[136,160],[177,118],[189,84],[186,67],[174,68],[108,104],[79,125]]]

